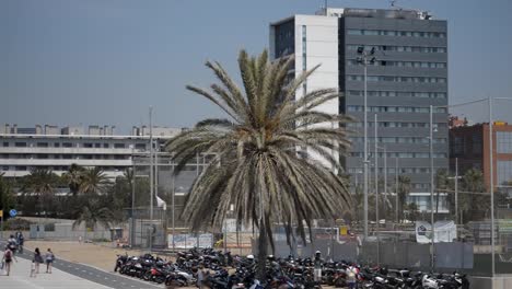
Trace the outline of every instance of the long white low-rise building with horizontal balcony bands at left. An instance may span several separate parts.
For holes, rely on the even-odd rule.
[[[161,148],[182,129],[154,127],[155,148]],[[20,177],[33,169],[47,169],[57,174],[72,163],[98,166],[108,177],[123,175],[131,167],[132,154],[149,151],[149,128],[133,127],[131,135],[116,135],[114,126],[39,126],[0,128],[0,173]]]

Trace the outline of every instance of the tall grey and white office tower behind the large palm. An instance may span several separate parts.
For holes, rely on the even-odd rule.
[[[347,157],[340,161],[353,182],[361,184],[364,76],[358,49],[369,54],[370,152],[374,143],[373,117],[377,114],[377,141],[387,150],[389,183],[397,162],[398,173],[411,180],[409,201],[417,203],[420,210],[428,210],[430,105],[434,106],[434,170],[449,166],[447,109],[442,107],[447,105],[446,21],[414,10],[327,8],[315,15],[293,15],[270,24],[270,55],[274,59],[293,55],[294,76],[322,65],[296,97],[315,89],[337,88],[341,97],[319,109],[357,119],[349,125],[354,131],[352,148],[341,154]],[[377,157],[382,176],[383,152]],[[370,173],[374,170],[371,167]]]

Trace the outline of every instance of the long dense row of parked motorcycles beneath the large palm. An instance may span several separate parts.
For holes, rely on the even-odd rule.
[[[324,262],[315,258],[276,258],[265,261],[266,279],[257,280],[258,262],[253,255],[245,257],[212,248],[193,248],[179,252],[175,262],[146,254],[119,255],[115,271],[170,287],[200,284],[207,288],[267,289],[267,288],[338,288],[358,289],[468,289],[466,275],[433,274],[408,269],[360,266],[350,262]],[[316,270],[315,270],[316,268]],[[318,270],[318,268],[321,268]],[[316,278],[315,278],[315,274]]]

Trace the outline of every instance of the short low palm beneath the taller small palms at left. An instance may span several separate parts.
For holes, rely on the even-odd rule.
[[[105,229],[110,228],[110,223],[115,220],[114,213],[110,209],[103,205],[98,198],[88,198],[88,201],[81,208],[79,217],[73,222],[72,228],[80,227],[83,222],[84,226],[84,241],[86,240],[86,231],[91,229],[94,231],[96,224],[102,224]]]

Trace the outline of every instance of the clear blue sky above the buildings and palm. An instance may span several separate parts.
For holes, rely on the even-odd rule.
[[[213,80],[207,59],[236,73],[240,48],[268,47],[269,22],[314,13],[322,0],[0,0],[0,124],[148,122],[191,126],[220,115],[185,91]],[[449,21],[450,102],[512,97],[511,0],[403,0]],[[385,0],[330,0],[386,8]],[[457,113],[482,120],[486,107]],[[497,116],[512,123],[512,102]]]

